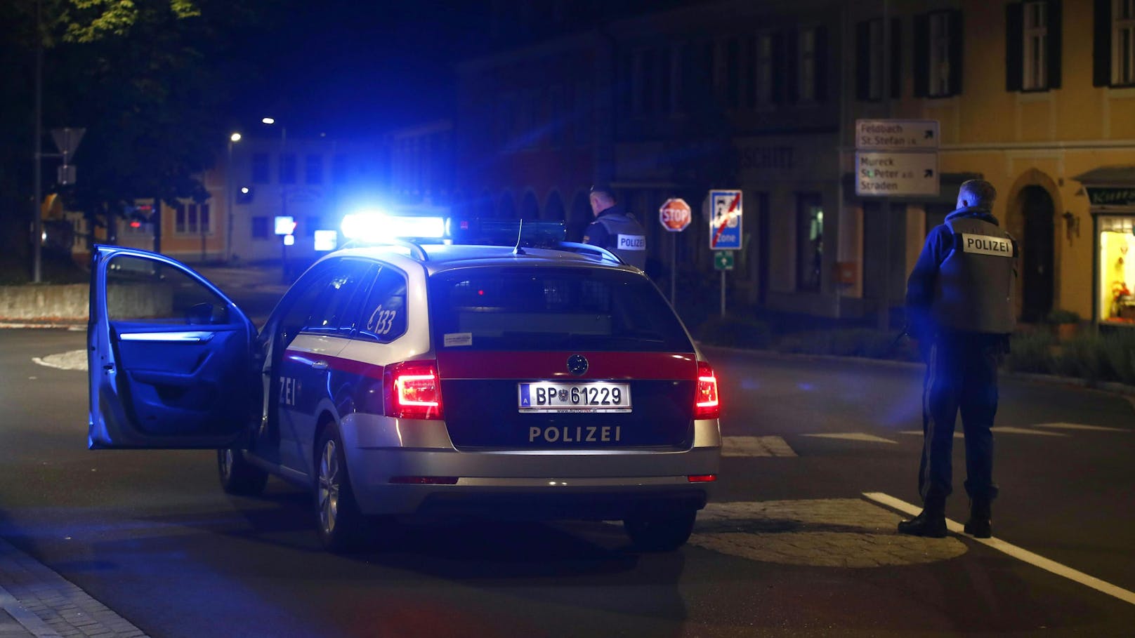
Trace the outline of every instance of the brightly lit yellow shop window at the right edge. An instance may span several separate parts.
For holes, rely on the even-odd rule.
[[[1100,218],[1100,320],[1135,325],[1135,217]]]

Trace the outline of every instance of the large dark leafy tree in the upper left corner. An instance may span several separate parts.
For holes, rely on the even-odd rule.
[[[238,35],[270,27],[266,16],[278,9],[253,0],[40,1],[40,30],[35,0],[0,8],[0,89],[15,98],[0,101],[0,235],[20,260],[34,210],[37,41],[44,128],[86,128],[74,156],[77,184],[62,193],[69,208],[108,225],[137,198],[207,198],[199,176],[224,149],[237,78],[255,76],[237,54]],[[45,176],[50,168],[44,162]]]

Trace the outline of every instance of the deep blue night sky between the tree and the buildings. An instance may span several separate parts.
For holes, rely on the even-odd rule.
[[[453,67],[482,50],[487,2],[284,0],[239,56],[266,73],[250,78],[242,121],[270,115],[289,132],[376,133],[449,115]]]

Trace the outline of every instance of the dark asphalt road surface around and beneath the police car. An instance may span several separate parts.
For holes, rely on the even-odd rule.
[[[87,451],[85,373],[33,361],[83,346],[77,331],[0,330],[0,536],[151,636],[1135,627],[1135,604],[968,537],[893,532],[900,515],[863,494],[917,502],[916,368],[709,350],[730,454],[748,455],[723,460],[718,502],[675,553],[632,553],[609,523],[480,523],[342,557],[320,551],[306,494],[272,480],[262,498],[227,496],[211,452]],[[997,435],[994,535],[1135,590],[1135,408],[1002,385],[999,427],[1014,429]],[[964,468],[960,440],[956,452]],[[965,506],[959,487],[950,517]]]

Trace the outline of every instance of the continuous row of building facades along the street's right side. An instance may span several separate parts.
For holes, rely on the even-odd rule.
[[[868,317],[901,307],[926,233],[981,177],[1018,240],[1024,320],[1132,324],[1135,1],[670,5],[466,64],[461,187],[554,217],[541,198],[611,181],[662,276],[671,241],[679,270],[712,269],[699,209],[740,188],[734,299]],[[886,118],[938,121],[938,195],[856,194],[856,120]],[[571,152],[541,137],[580,120],[592,137]],[[672,196],[696,211],[680,236],[655,221]]]

